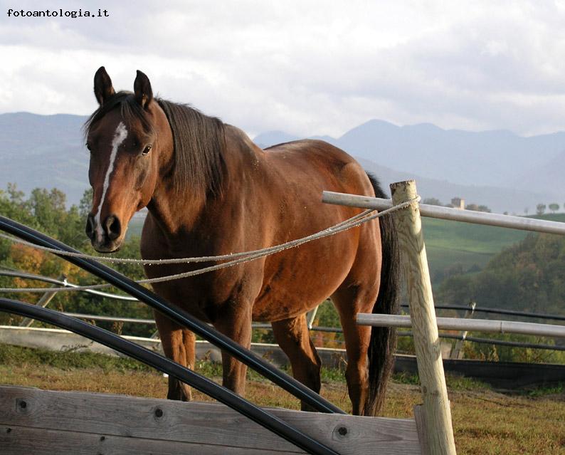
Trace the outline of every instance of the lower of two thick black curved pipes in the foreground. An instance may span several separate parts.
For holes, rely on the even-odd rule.
[[[44,323],[70,330],[90,340],[99,342],[101,345],[122,352],[122,354],[139,360],[161,372],[176,377],[176,379],[186,382],[186,384],[191,387],[217,399],[218,402],[226,404],[228,407],[231,407],[231,409],[253,420],[253,422],[257,422],[262,427],[270,430],[270,432],[278,434],[278,436],[283,437],[295,446],[300,447],[300,449],[307,451],[309,454],[338,455],[333,449],[312,439],[310,436],[300,432],[300,430],[295,429],[278,417],[273,416],[273,414],[255,406],[255,404],[248,402],[238,394],[231,392],[231,390],[217,385],[216,382],[173,362],[167,357],[152,352],[134,342],[125,340],[125,338],[115,333],[96,327],[95,325],[84,323],[80,319],[71,318],[58,311],[23,303],[19,300],[11,300],[9,298],[0,298],[0,310],[25,316],[26,318],[41,320]]]

